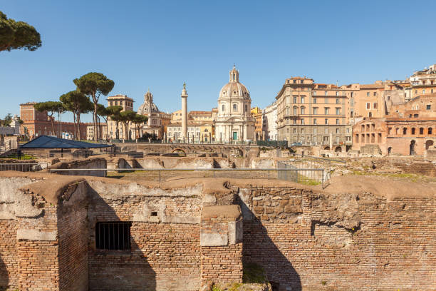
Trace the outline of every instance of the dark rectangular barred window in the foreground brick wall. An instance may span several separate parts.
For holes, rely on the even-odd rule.
[[[96,223],[95,247],[98,250],[130,250],[130,222]]]

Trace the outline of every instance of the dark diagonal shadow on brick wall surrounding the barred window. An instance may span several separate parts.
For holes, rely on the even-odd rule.
[[[128,218],[118,217],[115,210],[95,190],[90,188],[89,191],[89,290],[155,291],[155,271],[135,241],[139,225],[128,223]],[[126,228],[128,225],[130,227]],[[130,247],[127,246],[128,242],[123,246],[123,238],[128,242],[130,239]]]

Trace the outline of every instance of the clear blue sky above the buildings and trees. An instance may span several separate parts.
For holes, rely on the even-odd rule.
[[[216,107],[233,63],[260,107],[290,76],[372,83],[436,63],[433,0],[14,0],[0,11],[35,26],[43,44],[0,52],[1,118],[58,100],[90,71],[113,79],[110,94],[127,94],[135,110],[150,87],[161,111],[175,111],[183,81],[188,110]]]

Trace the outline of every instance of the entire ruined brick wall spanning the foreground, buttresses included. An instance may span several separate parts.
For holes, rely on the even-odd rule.
[[[435,290],[435,185],[333,182],[1,173],[0,290]]]

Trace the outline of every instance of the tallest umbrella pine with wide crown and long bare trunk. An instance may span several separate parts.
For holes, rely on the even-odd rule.
[[[81,91],[86,96],[89,96],[91,98],[91,101],[93,101],[94,103],[94,141],[97,141],[97,138],[99,136],[97,127],[98,99],[101,95],[108,95],[108,93],[112,91],[115,83],[108,77],[103,75],[103,73],[87,73],[86,75],[81,76],[81,78],[74,79],[73,82],[76,84],[78,91]]]

